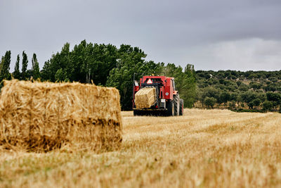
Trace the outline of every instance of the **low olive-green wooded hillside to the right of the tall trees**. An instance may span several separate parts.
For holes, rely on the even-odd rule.
[[[281,111],[281,70],[197,70],[196,79],[202,107]]]

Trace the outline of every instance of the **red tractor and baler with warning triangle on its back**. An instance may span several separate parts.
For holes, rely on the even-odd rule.
[[[174,77],[143,76],[140,82],[133,75],[133,115],[183,115],[183,99],[176,90]],[[149,108],[136,108],[135,96],[141,89],[155,87],[155,101]]]

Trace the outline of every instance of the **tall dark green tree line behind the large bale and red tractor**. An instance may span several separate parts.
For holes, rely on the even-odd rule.
[[[10,70],[11,51],[6,51],[0,62],[0,81],[41,80],[50,82],[81,82],[106,87],[116,87],[121,96],[122,110],[132,107],[133,73],[165,74],[175,77],[176,87],[191,108],[195,103],[195,70],[193,65],[185,68],[174,63],[145,61],[145,52],[131,45],[122,44],[117,48],[112,44],[93,44],[86,40],[70,50],[70,43],[63,45],[60,52],[53,54],[39,70],[37,55],[32,56],[32,68],[27,70],[28,59],[25,51],[17,56],[15,68]],[[21,64],[21,69],[20,69]],[[13,73],[10,73],[13,72]],[[139,80],[140,77],[137,77]]]

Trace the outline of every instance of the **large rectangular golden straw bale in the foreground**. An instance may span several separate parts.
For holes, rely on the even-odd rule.
[[[92,84],[5,81],[0,145],[6,149],[112,150],[122,141],[119,92]]]

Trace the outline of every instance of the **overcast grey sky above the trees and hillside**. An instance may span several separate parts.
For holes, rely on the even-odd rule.
[[[281,70],[281,1],[0,0],[0,56],[11,50],[11,72],[22,51],[42,68],[84,39],[195,70]]]

